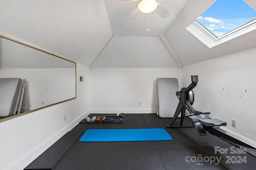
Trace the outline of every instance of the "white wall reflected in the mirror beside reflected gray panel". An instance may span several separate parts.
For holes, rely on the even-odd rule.
[[[75,68],[0,69],[0,78],[25,79],[22,112],[76,97],[75,75]]]

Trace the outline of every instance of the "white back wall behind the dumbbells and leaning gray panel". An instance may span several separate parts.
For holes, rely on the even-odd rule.
[[[156,78],[175,77],[181,85],[181,73],[178,68],[92,69],[91,113],[156,113]]]

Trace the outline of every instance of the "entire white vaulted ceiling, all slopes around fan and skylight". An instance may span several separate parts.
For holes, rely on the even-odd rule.
[[[214,0],[158,2],[170,16],[129,18],[138,1],[0,0],[0,34],[91,68],[182,68],[256,47],[255,30],[212,48],[186,30]]]

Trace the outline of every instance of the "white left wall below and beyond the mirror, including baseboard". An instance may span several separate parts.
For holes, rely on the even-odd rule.
[[[80,83],[78,76],[84,75]],[[23,169],[90,109],[90,71],[77,64],[77,98],[0,123],[0,169]],[[66,121],[63,120],[66,115]]]

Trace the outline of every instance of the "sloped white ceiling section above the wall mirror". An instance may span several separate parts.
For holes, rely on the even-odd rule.
[[[0,33],[86,66],[112,36],[104,0],[1,0]]]

